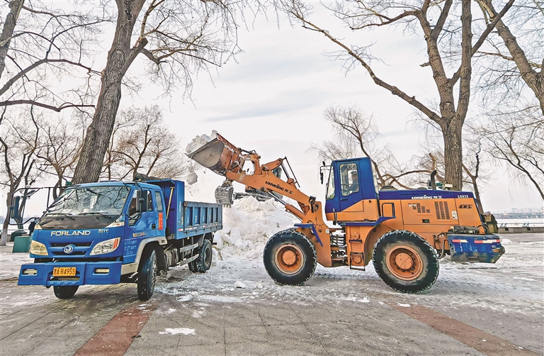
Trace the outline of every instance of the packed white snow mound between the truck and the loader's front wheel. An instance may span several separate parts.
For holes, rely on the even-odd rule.
[[[273,199],[257,201],[253,196],[237,199],[223,208],[223,229],[215,232],[213,242],[223,260],[261,257],[264,245],[278,231],[292,228],[297,220]]]

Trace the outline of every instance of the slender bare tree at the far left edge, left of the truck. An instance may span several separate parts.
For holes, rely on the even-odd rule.
[[[35,174],[35,152],[38,150],[40,128],[34,117],[34,107],[26,113],[28,118],[7,118],[6,108],[0,113],[0,153],[5,167],[1,172],[0,184],[6,191],[6,220],[2,228],[0,246],[5,246],[11,218],[11,196],[23,184],[33,184]]]

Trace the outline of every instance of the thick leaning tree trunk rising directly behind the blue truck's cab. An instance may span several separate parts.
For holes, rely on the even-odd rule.
[[[86,130],[84,145],[74,171],[74,184],[98,181],[119,109],[121,82],[137,54],[147,45],[147,40],[140,38],[135,47],[130,48],[132,30],[145,0],[115,2],[118,6],[117,27],[108,52],[106,69],[102,72],[96,111]]]

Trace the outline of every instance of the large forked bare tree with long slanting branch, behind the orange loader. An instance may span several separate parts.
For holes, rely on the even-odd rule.
[[[462,133],[470,103],[472,57],[513,3],[514,0],[509,0],[487,26],[482,28],[475,26],[479,30],[475,42],[472,41],[470,0],[460,1],[460,6],[453,0],[339,1],[326,5],[334,16],[353,31],[370,31],[381,26],[404,26],[411,33],[421,35],[425,40],[429,58],[429,61],[421,66],[431,68],[430,74],[439,97],[437,109],[382,79],[371,66],[371,61],[375,58],[370,53],[370,46],[346,44],[329,30],[312,22],[310,4],[298,0],[288,1],[287,11],[302,23],[302,27],[320,33],[338,45],[341,52],[337,57],[346,60],[347,70],[353,69],[355,65],[361,65],[376,85],[407,102],[440,128],[445,152],[444,178],[447,183],[453,184],[453,189],[459,190],[463,187]],[[453,70],[448,75],[449,69]],[[455,100],[454,87],[457,84],[458,94]]]

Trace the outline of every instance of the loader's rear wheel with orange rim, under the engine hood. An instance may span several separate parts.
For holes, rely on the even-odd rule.
[[[378,276],[401,293],[421,293],[438,278],[438,257],[421,236],[405,230],[383,235],[372,257]]]

